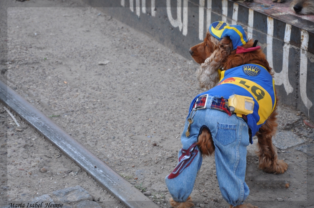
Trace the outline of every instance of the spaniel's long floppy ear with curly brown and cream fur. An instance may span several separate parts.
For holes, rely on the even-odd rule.
[[[218,41],[211,37],[214,44],[214,52],[201,64],[196,71],[200,88],[211,89],[219,82],[218,69],[221,69],[226,62],[226,57],[233,49],[231,39],[225,37]]]

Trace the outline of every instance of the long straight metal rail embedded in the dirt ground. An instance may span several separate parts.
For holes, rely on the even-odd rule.
[[[125,206],[130,208],[159,207],[3,81],[0,81],[0,100],[56,145]]]

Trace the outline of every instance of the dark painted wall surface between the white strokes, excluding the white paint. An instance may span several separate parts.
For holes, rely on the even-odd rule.
[[[139,17],[136,14],[135,2],[133,0],[134,12],[130,10],[129,0],[125,0],[125,7],[121,6],[121,0],[84,0],[92,7],[98,7],[106,14],[113,18],[132,26],[142,33],[154,38],[161,44],[181,54],[191,60],[188,52],[189,48],[202,42],[199,39],[199,0],[188,0],[188,24],[187,35],[183,35],[183,29],[173,27],[169,22],[166,8],[166,0],[155,0],[155,16],[151,14],[151,1],[146,0],[146,14],[140,9]],[[183,2],[181,8],[181,20],[183,22]],[[177,18],[177,1],[171,0],[171,15],[173,19]],[[228,1],[227,22],[232,22],[234,2]],[[208,30],[206,25],[207,17],[207,1],[205,0],[203,27],[205,37]],[[212,0],[211,22],[222,20],[222,1]],[[239,4],[238,7],[238,24],[243,27],[248,25],[249,9],[246,6]],[[253,23],[253,39],[258,39],[258,44],[262,47],[263,52],[267,55],[267,15],[254,11]],[[286,23],[273,19],[273,67],[275,72],[279,73],[283,67],[283,46]],[[245,29],[246,30],[246,29]],[[301,47],[301,29],[292,25],[290,36],[289,50],[289,82],[293,87],[293,92],[287,94],[284,85],[276,86],[277,94],[280,102],[292,106],[314,120],[314,34],[309,32],[308,41],[308,62],[307,62],[307,81],[306,95],[312,102],[313,106],[308,109],[301,99],[300,95],[300,49]]]

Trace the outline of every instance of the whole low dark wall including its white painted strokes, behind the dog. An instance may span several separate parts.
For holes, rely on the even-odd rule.
[[[189,48],[202,42],[210,23],[246,27],[258,39],[275,70],[281,103],[314,120],[314,33],[229,0],[85,0],[106,14],[191,58]]]

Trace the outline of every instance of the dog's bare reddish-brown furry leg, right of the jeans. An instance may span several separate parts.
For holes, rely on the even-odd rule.
[[[276,110],[266,120],[265,124],[259,128],[256,136],[257,156],[259,156],[259,168],[266,173],[282,174],[288,169],[288,164],[283,160],[278,160],[277,148],[273,145],[272,137],[277,130]]]

